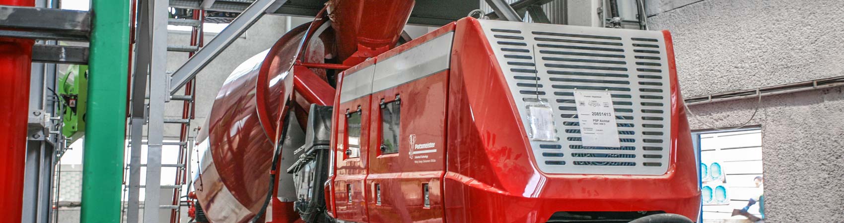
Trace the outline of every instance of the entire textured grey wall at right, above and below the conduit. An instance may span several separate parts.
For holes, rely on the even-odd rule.
[[[694,2],[694,3],[693,3]],[[648,1],[668,29],[685,97],[844,75],[841,1]],[[844,88],[762,98],[767,222],[844,220]],[[735,126],[756,98],[692,106],[693,129]]]

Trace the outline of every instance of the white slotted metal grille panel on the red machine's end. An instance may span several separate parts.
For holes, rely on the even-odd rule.
[[[514,95],[554,108],[558,141],[531,141],[544,173],[662,175],[671,132],[662,32],[480,20]],[[574,90],[609,91],[620,147],[584,147]]]

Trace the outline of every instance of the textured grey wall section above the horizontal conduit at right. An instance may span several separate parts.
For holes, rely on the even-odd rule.
[[[648,23],[671,30],[680,82],[695,86],[684,95],[694,96],[844,75],[841,12],[831,0],[706,0]]]

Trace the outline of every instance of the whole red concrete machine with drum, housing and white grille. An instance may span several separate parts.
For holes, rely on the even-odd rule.
[[[198,146],[197,222],[692,222],[668,31],[329,1],[235,69]]]

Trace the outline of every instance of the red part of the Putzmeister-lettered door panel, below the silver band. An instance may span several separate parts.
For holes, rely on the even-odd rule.
[[[447,71],[372,94],[370,222],[443,219]]]

